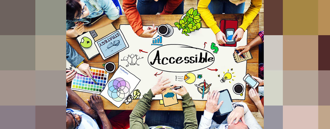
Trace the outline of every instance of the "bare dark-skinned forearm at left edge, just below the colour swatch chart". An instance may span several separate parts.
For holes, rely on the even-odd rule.
[[[93,118],[93,119],[97,118],[96,112],[93,109],[91,109],[82,100],[82,98],[77,95],[77,93],[75,93],[74,91],[72,91],[71,88],[69,88],[69,87],[66,87],[66,91],[68,93],[68,101],[69,102],[78,105],[82,109],[82,111],[84,111],[91,118]]]

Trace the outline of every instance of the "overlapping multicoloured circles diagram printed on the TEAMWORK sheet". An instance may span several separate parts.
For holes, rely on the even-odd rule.
[[[123,78],[116,78],[115,80],[111,80],[108,83],[108,95],[113,98],[115,101],[122,101],[126,97],[129,96],[129,83],[125,81]]]

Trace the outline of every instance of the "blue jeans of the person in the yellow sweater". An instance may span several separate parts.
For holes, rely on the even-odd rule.
[[[209,10],[212,14],[233,14],[233,13],[243,13],[245,2],[236,6],[231,2],[222,3],[219,0],[211,0],[209,4]]]

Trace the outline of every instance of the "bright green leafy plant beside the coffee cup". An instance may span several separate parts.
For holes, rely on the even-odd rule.
[[[199,30],[201,28],[202,19],[201,14],[198,13],[197,9],[194,10],[194,8],[189,9],[185,14],[186,15],[179,20],[179,22],[175,22],[174,25],[178,27],[179,30],[182,29],[182,34],[189,36],[187,33]]]

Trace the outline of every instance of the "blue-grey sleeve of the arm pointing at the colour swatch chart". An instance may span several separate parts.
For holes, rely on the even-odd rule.
[[[68,60],[74,67],[77,67],[84,58],[73,49],[68,42],[66,42],[66,60]]]

